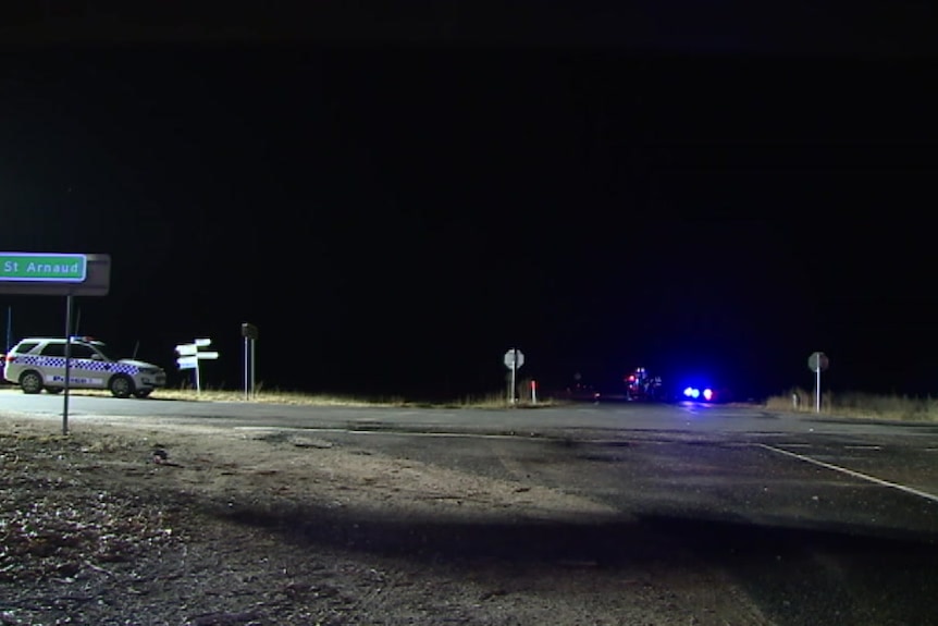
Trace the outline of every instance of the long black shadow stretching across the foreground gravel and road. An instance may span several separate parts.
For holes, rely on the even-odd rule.
[[[277,529],[285,541],[308,547],[511,577],[585,567],[614,584],[635,570],[669,576],[716,570],[777,624],[938,623],[934,535],[665,515],[602,524],[358,518],[309,508],[223,516]]]

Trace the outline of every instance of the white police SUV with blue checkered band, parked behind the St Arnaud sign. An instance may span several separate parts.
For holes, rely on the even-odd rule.
[[[107,346],[90,337],[72,337],[70,389],[107,389],[115,397],[147,397],[166,384],[163,368],[133,359],[112,358]],[[65,385],[65,340],[34,337],[17,343],[4,357],[3,378],[23,393],[60,393]]]

